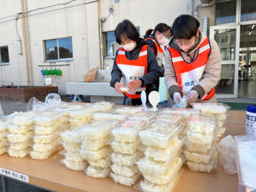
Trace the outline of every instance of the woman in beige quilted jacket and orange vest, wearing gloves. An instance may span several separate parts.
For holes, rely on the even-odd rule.
[[[191,102],[217,102],[215,86],[220,81],[220,50],[199,30],[199,21],[180,15],[172,24],[173,38],[164,55],[168,106],[179,104],[186,96]]]

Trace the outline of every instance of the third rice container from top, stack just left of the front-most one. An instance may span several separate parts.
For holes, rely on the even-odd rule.
[[[132,166],[140,158],[143,158],[143,156],[144,154],[141,150],[137,150],[131,155],[118,154],[118,153],[111,154],[112,162],[120,166]]]

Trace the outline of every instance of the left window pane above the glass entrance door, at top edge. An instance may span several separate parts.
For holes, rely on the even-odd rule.
[[[236,0],[216,3],[216,25],[236,22]]]

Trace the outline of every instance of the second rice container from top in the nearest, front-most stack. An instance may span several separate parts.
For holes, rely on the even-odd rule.
[[[185,136],[178,135],[167,148],[141,146],[140,150],[144,152],[146,158],[152,158],[156,161],[168,161],[177,156],[186,140]]]

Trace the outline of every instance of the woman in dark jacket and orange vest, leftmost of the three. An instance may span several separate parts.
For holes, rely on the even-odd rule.
[[[131,104],[141,104],[141,92],[146,91],[148,96],[154,90],[153,82],[161,75],[156,56],[129,20],[117,25],[115,36],[120,49],[111,71],[110,86],[120,94],[124,93],[121,88],[127,87],[125,95],[131,98]]]

